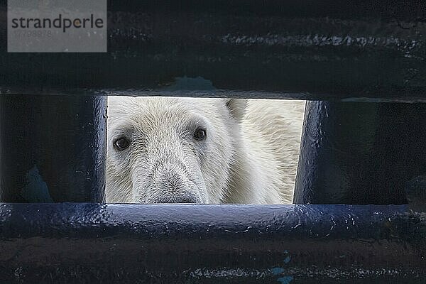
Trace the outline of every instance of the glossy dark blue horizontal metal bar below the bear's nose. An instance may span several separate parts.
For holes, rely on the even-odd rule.
[[[0,280],[421,283],[406,206],[1,204]],[[413,282],[414,281],[414,282]]]

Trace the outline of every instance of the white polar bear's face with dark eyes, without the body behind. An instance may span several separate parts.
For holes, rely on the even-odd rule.
[[[222,202],[244,113],[237,101],[109,97],[107,200]]]

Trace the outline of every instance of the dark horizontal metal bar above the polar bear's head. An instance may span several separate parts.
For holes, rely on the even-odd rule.
[[[0,45],[1,93],[164,95],[177,78],[202,77],[216,90],[169,95],[425,101],[421,0],[132,0],[108,9],[108,53]]]

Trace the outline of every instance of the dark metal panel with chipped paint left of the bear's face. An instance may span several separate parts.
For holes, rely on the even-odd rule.
[[[1,202],[103,202],[107,99],[0,95]]]

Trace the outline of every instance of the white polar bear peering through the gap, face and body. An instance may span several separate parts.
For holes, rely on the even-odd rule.
[[[107,202],[293,202],[305,102],[109,97]]]

